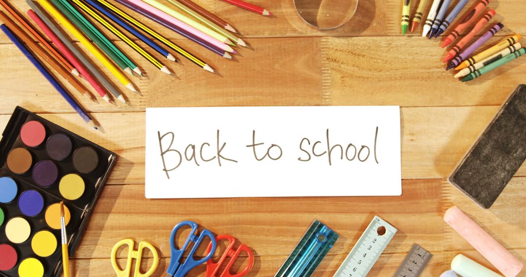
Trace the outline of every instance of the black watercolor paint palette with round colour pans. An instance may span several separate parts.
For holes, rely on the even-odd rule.
[[[0,276],[59,276],[60,201],[73,255],[117,155],[19,106],[0,141]]]

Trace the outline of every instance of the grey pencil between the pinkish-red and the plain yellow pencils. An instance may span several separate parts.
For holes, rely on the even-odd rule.
[[[55,24],[49,18],[49,15],[47,15],[46,12],[42,10],[38,3],[33,2],[33,0],[26,0],[26,3],[29,6],[31,6],[34,12],[44,21],[44,23],[46,23],[46,25],[53,31],[53,33],[55,33],[55,35],[58,38],[60,38],[60,40],[62,40],[63,44],[65,44],[69,48],[69,50],[72,51],[73,55],[75,55],[75,57],[83,63],[83,65],[88,69],[88,71],[90,71],[98,79],[98,81],[106,87],[107,90],[109,90],[114,95],[120,93],[119,90],[115,88],[114,84],[108,81],[106,76],[104,76],[104,74],[101,73],[99,69],[95,67],[92,64],[92,62],[88,58],[86,58],[75,45],[73,45],[73,42],[69,41],[69,37],[67,37],[61,29],[55,26]],[[111,103],[111,101],[108,102]]]

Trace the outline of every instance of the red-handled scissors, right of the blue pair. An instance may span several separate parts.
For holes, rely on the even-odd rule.
[[[225,249],[225,252],[221,255],[221,258],[219,258],[219,261],[215,263],[212,261],[212,259],[208,260],[206,263],[206,277],[241,277],[245,276],[251,269],[252,265],[254,265],[254,255],[252,255],[252,252],[250,251],[250,248],[246,246],[245,244],[241,244],[237,249],[234,249],[234,244],[236,243],[236,238],[230,236],[230,235],[219,235],[216,237],[216,242],[220,240],[228,240],[229,244],[227,248]],[[212,250],[212,244],[208,244],[208,248],[206,249],[207,252],[214,253]],[[236,262],[237,258],[239,257],[239,254],[241,252],[247,252],[248,255],[248,264],[247,267],[236,274],[231,274],[230,269],[232,268],[232,265]],[[230,258],[228,261],[228,264],[225,268],[225,270],[221,273],[218,273],[219,269],[222,267],[223,262],[227,258]]]

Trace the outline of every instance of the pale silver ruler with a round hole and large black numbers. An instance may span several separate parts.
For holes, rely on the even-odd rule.
[[[395,227],[375,216],[334,277],[365,277],[396,231]]]

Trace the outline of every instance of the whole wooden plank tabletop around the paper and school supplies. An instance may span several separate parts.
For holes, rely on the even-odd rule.
[[[28,6],[23,0],[11,2],[25,14]],[[175,223],[191,219],[216,234],[229,233],[247,244],[256,255],[250,276],[271,276],[311,221],[319,219],[340,235],[315,273],[332,276],[374,215],[390,222],[398,232],[369,276],[391,276],[413,242],[433,253],[423,276],[438,276],[448,270],[458,253],[494,269],[442,220],[444,211],[453,205],[526,263],[526,166],[489,210],[478,207],[446,181],[501,103],[526,81],[526,58],[462,83],[444,70],[439,40],[399,34],[400,0],[362,0],[351,22],[325,32],[302,23],[292,0],[251,0],[274,13],[271,17],[217,0],[197,2],[237,28],[251,49],[238,48],[239,55],[226,60],[144,19],[218,73],[208,73],[178,56],[179,63],[168,64],[175,76],[168,76],[118,41],[146,71],[146,77],[132,79],[141,95],[123,90],[130,105],[97,104],[78,97],[103,132],[80,120],[11,41],[0,35],[0,126],[5,126],[15,106],[21,105],[119,155],[74,254],[75,275],[115,275],[110,250],[117,241],[129,237],[147,240],[158,248],[162,259],[155,276],[164,276],[170,257],[170,230]],[[526,35],[526,2],[500,0],[489,6],[497,11],[493,22],[500,20],[505,27],[488,45],[511,33]],[[400,105],[402,196],[144,197],[146,107],[240,105]],[[330,189],[329,184],[325,187]],[[124,257],[123,253],[120,256]],[[148,262],[151,260],[145,260],[144,268]],[[204,276],[204,272],[201,265],[189,275]],[[526,270],[521,276],[526,276]]]

